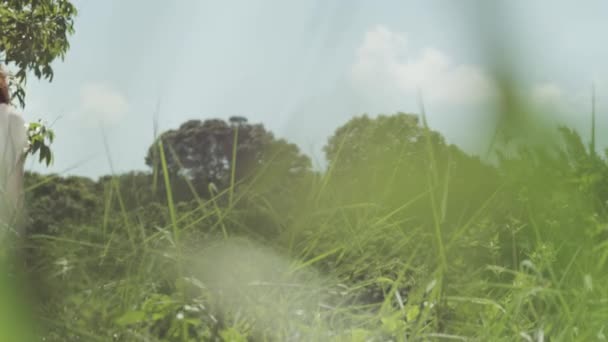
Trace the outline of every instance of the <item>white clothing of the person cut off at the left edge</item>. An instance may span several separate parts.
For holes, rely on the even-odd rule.
[[[0,104],[0,240],[7,231],[18,232],[22,206],[23,162],[27,132],[22,116]]]

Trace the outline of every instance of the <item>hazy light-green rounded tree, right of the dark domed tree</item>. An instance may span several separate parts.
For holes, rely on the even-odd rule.
[[[424,195],[429,191],[436,199],[445,197],[444,221],[453,224],[487,200],[497,184],[493,167],[448,145],[413,114],[355,117],[336,130],[324,150],[334,193],[387,208],[419,198],[403,213],[422,221],[433,217]]]

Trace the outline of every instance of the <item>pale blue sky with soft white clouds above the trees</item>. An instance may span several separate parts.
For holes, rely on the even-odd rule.
[[[475,152],[489,134],[496,56],[515,67],[531,103],[583,135],[595,84],[599,130],[608,127],[605,1],[73,3],[76,33],[53,82],[31,78],[26,88],[26,121],[57,135],[53,165],[32,161],[31,170],[147,170],[155,127],[233,115],[323,165],[327,138],[350,118],[420,113],[420,99],[432,128]]]

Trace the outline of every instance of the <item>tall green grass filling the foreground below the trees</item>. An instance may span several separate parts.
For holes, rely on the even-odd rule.
[[[484,207],[444,236],[436,197],[430,197],[435,223],[429,230],[395,214],[410,202],[381,209],[377,203],[332,206],[333,199],[324,195],[328,181],[315,184],[310,198],[316,200],[272,239],[213,234],[206,224],[230,222],[231,207],[179,209],[170,196],[170,224],[156,231],[123,216],[112,221],[110,233],[82,226],[60,236],[34,236],[45,257],[36,267],[55,286],[48,289],[48,307],[39,308],[47,340],[539,341],[544,335],[589,341],[603,336],[605,243],[580,238],[576,253],[558,258],[562,247],[556,236],[568,227],[548,236],[540,227],[544,223],[532,220],[532,227],[521,228],[534,236],[532,253],[516,267],[492,264],[490,246],[478,258],[458,242],[463,236],[473,239],[467,241],[471,245],[492,242],[483,236],[475,240]],[[449,193],[449,184],[439,188],[441,196]],[[119,199],[120,189],[112,194]]]

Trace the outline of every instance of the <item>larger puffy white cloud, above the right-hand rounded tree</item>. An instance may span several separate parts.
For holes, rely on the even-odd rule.
[[[478,66],[454,63],[434,48],[412,57],[407,37],[378,26],[368,31],[351,70],[352,81],[366,93],[416,98],[441,105],[485,102],[496,94],[493,80]]]

